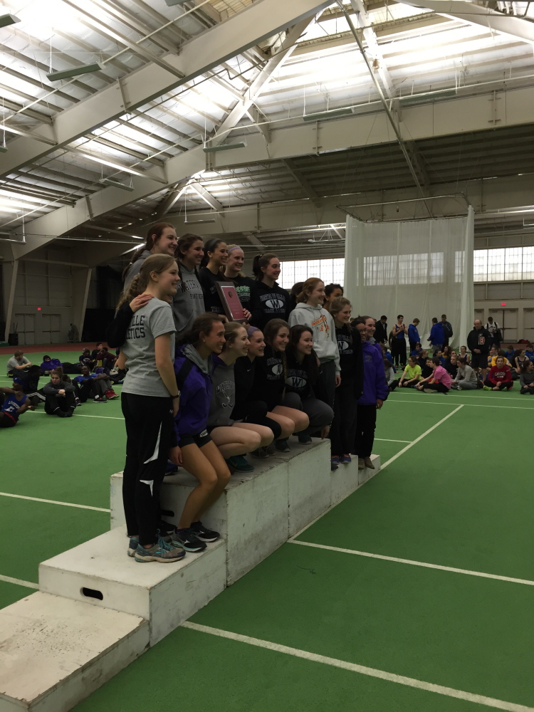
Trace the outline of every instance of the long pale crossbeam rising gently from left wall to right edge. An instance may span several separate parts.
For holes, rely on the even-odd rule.
[[[488,98],[493,92],[473,96],[446,98],[439,102],[413,105],[402,110],[399,126],[405,140],[431,139],[455,134],[488,129]],[[516,127],[532,123],[534,116],[534,88],[525,87],[503,90],[498,93],[496,117],[500,127]],[[319,142],[318,142],[319,139]],[[273,141],[266,145],[261,134],[248,136],[246,148],[214,154],[211,170],[238,169],[243,164],[270,165],[273,161],[291,159],[295,156],[316,155],[348,150],[350,148],[389,144],[393,132],[384,112],[379,108],[365,114],[354,114],[325,122],[313,127],[301,124],[273,131]],[[319,144],[319,148],[318,148]],[[7,155],[7,154],[6,154]],[[169,159],[165,164],[167,185],[187,177],[198,176],[206,169],[206,157],[201,147]],[[244,175],[246,179],[246,175]],[[200,179],[201,180],[201,179]],[[161,192],[162,185],[145,176],[133,176],[134,191],[126,193],[117,188],[106,188],[88,197],[93,215],[101,216],[120,210],[122,206]],[[524,204],[524,203],[523,203]],[[59,208],[52,213],[26,224],[26,233],[58,236],[83,224],[89,219],[85,199],[73,207]],[[328,220],[335,222],[335,220]]]

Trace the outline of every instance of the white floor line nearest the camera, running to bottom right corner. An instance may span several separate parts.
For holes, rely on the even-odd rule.
[[[228,630],[221,630],[220,628],[212,628],[211,626],[200,625],[198,623],[190,623],[186,621],[182,623],[183,628],[189,628],[191,630],[196,630],[200,633],[208,633],[209,635],[215,635],[219,638],[227,638],[229,640],[235,640],[239,643],[246,643],[248,645],[253,645],[258,648],[265,648],[267,650],[272,650],[276,653],[283,653],[286,655],[292,655],[295,658],[303,658],[310,662],[321,663],[323,665],[330,665],[332,667],[341,668],[342,670],[348,670],[350,672],[356,672],[360,675],[367,675],[369,677],[376,677],[380,680],[387,680],[388,682],[394,682],[398,685],[405,685],[407,687],[414,687],[418,690],[425,690],[426,692],[435,692],[438,695],[444,695],[446,697],[454,697],[459,700],[466,700],[468,702],[474,702],[479,705],[486,705],[486,707],[493,707],[499,710],[506,710],[506,712],[534,712],[534,707],[525,707],[524,705],[518,705],[513,702],[505,702],[503,700],[497,700],[493,697],[485,697],[483,695],[476,695],[472,692],[464,692],[463,690],[455,690],[452,687],[444,687],[442,685],[435,685],[431,682],[426,682],[424,680],[417,680],[412,677],[405,677],[404,675],[395,675],[394,673],[387,672],[385,670],[378,670],[376,668],[370,668],[365,665],[357,665],[356,663],[350,663],[345,660],[338,660],[337,658],[330,658],[326,655],[318,655],[316,653],[310,653],[307,650],[300,650],[298,648],[290,648],[287,645],[281,645],[278,643],[272,643],[270,640],[262,640],[260,638],[252,638],[248,635],[241,635],[239,633],[232,633]]]

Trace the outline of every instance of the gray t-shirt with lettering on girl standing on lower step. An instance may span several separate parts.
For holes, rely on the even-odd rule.
[[[169,334],[170,357],[174,359],[175,333],[176,327],[169,303],[153,298],[135,312],[126,333],[126,341],[122,345],[128,369],[122,392],[162,398],[170,396],[156,367],[155,340],[162,334]]]

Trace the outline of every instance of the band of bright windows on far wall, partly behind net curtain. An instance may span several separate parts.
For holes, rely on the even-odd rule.
[[[454,253],[454,281],[464,278],[465,253]],[[282,262],[280,284],[290,289],[295,282],[308,277],[320,277],[325,284],[343,284],[345,259],[298,260]],[[382,255],[365,257],[365,286],[439,283],[444,278],[444,253],[432,252],[413,255]],[[473,281],[505,282],[534,280],[534,246],[475,250],[473,253]]]

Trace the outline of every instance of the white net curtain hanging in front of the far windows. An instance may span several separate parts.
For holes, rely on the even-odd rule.
[[[352,316],[420,320],[419,336],[428,347],[432,317],[446,314],[454,336],[451,345],[466,344],[473,328],[474,213],[431,219],[362,220],[366,206],[347,206],[345,296]],[[433,211],[434,212],[434,211]],[[391,212],[389,212],[391,214]]]

